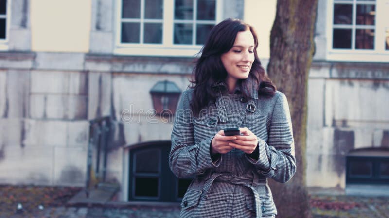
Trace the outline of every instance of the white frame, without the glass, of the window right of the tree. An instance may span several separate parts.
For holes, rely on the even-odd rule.
[[[389,50],[385,50],[386,29],[389,28],[389,0],[375,0],[375,26],[356,25],[356,3],[371,4],[368,0],[328,0],[327,1],[327,55],[328,61],[350,61],[350,62],[389,62]],[[353,5],[353,24],[352,24],[352,48],[351,49],[334,49],[333,29],[334,26],[334,4],[344,3]],[[374,49],[355,49],[355,30],[357,27],[367,27],[374,29]],[[350,25],[347,25],[350,27]]]

